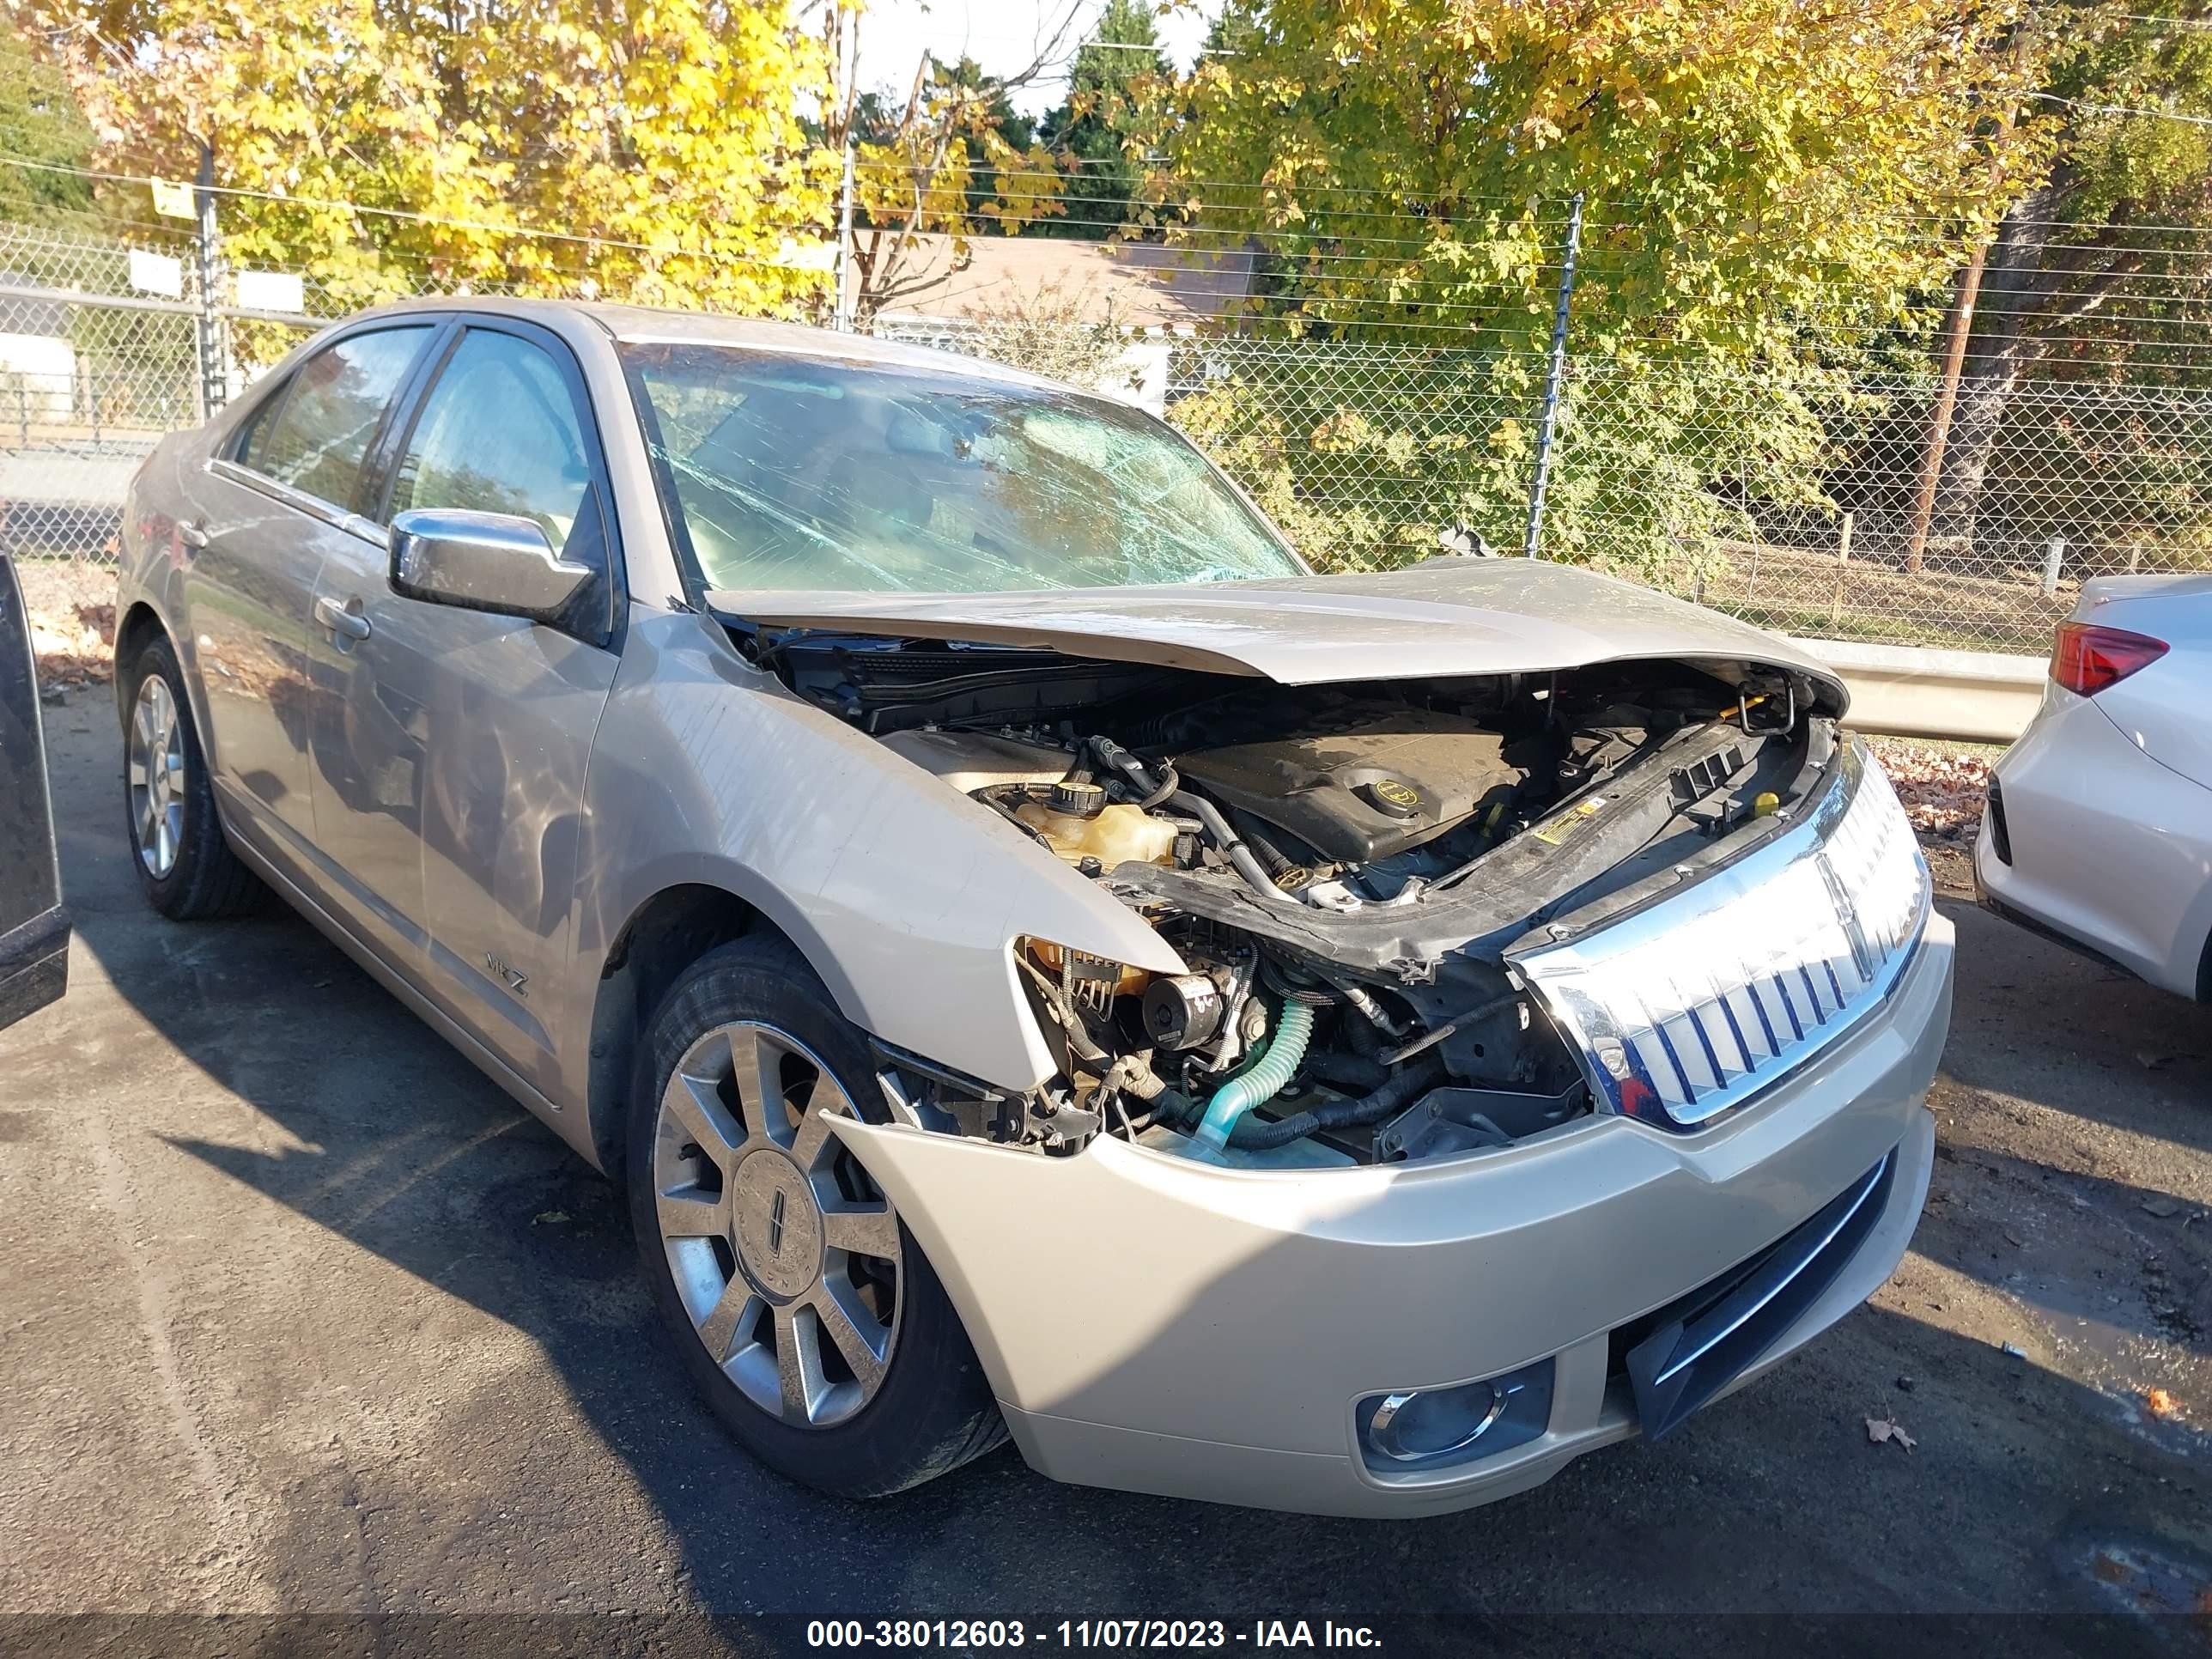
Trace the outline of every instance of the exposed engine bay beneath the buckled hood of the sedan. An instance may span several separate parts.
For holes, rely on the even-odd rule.
[[[1836,759],[1816,688],[1750,664],[1296,688],[1013,646],[741,644],[1099,883],[1188,964],[1148,973],[1024,938],[1060,1082],[1011,1099],[907,1066],[918,1113],[1044,1152],[1119,1135],[1325,1168],[1573,1121],[1590,1088],[1513,947],[1730,860]]]

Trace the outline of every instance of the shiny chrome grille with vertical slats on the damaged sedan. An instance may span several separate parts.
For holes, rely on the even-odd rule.
[[[1681,894],[1511,962],[1615,1110],[1690,1128],[1741,1106],[1889,995],[1929,869],[1860,743],[1805,823]]]

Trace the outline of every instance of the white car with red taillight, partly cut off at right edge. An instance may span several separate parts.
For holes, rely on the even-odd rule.
[[[2081,584],[1973,874],[2000,916],[2212,1000],[2212,575]]]

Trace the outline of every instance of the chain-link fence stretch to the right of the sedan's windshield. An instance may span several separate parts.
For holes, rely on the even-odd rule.
[[[1276,336],[1130,341],[1035,325],[900,330],[1141,400],[1325,571],[1517,553],[1544,361]],[[1161,358],[1157,378],[1141,365]],[[1133,367],[1133,361],[1139,367]],[[1783,633],[2044,655],[2084,580],[2212,571],[2212,394],[1933,376],[1568,363],[1546,557]],[[1944,447],[1931,465],[1931,438]]]

